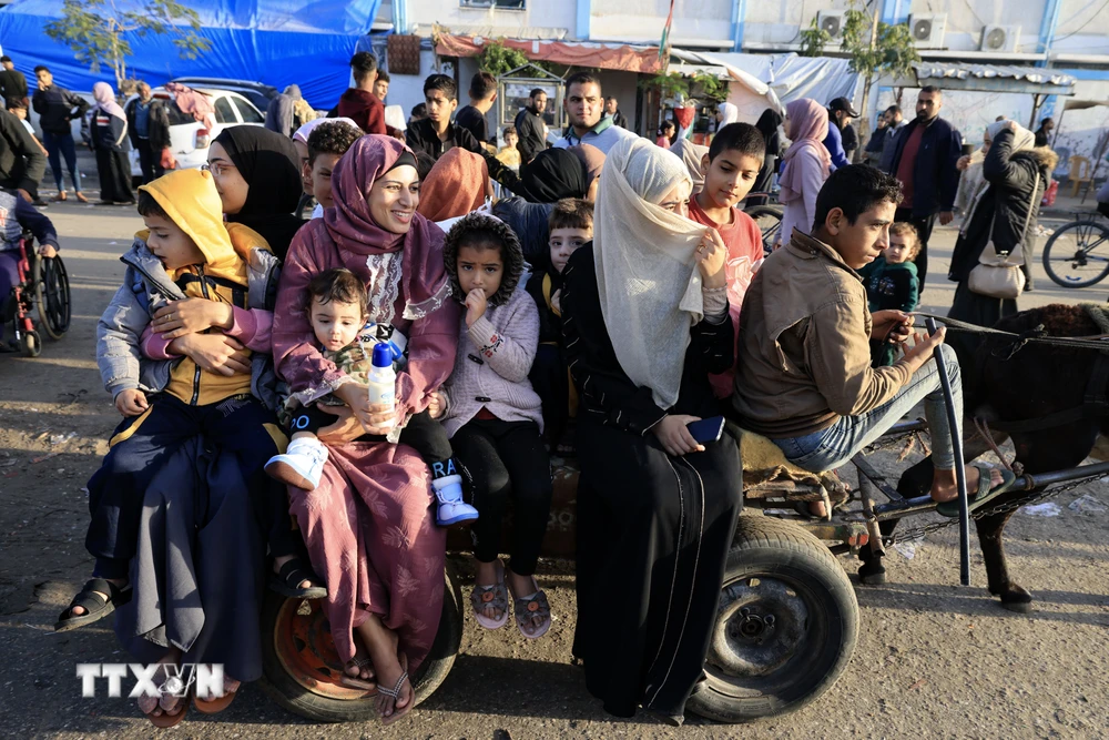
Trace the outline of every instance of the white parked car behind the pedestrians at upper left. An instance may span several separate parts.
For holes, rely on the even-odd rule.
[[[265,116],[245,97],[230,90],[214,88],[193,88],[212,99],[215,109],[215,125],[208,128],[193,119],[189,113],[182,113],[165,88],[155,88],[154,98],[166,103],[170,116],[170,149],[177,160],[179,170],[196,169],[207,162],[208,144],[227,128],[235,125],[263,125]],[[131,176],[142,178],[139,165],[139,152],[128,153],[131,160]]]

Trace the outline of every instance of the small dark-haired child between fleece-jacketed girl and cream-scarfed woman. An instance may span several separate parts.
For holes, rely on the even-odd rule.
[[[562,271],[570,255],[593,239],[593,204],[563,199],[551,210],[548,225],[550,266],[533,273],[527,285],[539,308],[539,351],[528,378],[543,402],[543,436],[550,448],[564,457],[573,452],[566,432],[578,404],[562,351]]]

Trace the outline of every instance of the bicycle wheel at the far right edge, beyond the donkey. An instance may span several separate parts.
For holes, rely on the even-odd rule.
[[[1109,203],[1097,211],[1078,212],[1075,220],[1059,226],[1044,247],[1044,270],[1062,287],[1089,287],[1109,275]]]

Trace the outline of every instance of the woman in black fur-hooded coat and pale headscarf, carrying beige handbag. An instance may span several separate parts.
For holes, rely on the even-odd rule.
[[[947,274],[959,284],[948,315],[993,326],[1003,316],[1016,313],[1017,302],[971,292],[970,271],[990,241],[998,255],[1019,251],[1027,264],[1035,246],[1040,197],[1059,158],[1047,146],[1037,149],[1036,135],[1015,121],[994,123],[986,129],[984,141],[988,152],[981,165],[983,180],[971,195]],[[958,345],[958,337],[952,343]]]

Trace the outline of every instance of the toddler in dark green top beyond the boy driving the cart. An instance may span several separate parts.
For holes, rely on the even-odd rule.
[[[898,221],[889,226],[889,246],[882,256],[858,271],[866,286],[871,313],[894,308],[916,311],[920,295],[920,281],[916,276],[913,257],[920,251],[920,239],[913,224]],[[898,355],[897,344],[885,338],[871,341],[871,359],[874,367],[893,365]]]

